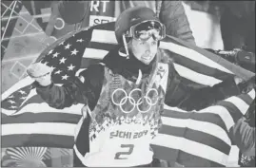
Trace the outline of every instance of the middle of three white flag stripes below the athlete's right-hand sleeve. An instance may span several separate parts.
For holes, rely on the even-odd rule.
[[[226,135],[226,131],[216,124],[212,124],[207,121],[194,121],[191,119],[181,120],[181,119],[173,119],[173,118],[167,118],[167,117],[163,117],[162,121],[164,125],[193,129],[195,131],[199,131],[211,136],[215,136],[217,137],[217,139],[223,140],[226,144],[229,144],[229,145],[231,144],[230,139]],[[168,134],[167,129],[162,130],[161,132]]]

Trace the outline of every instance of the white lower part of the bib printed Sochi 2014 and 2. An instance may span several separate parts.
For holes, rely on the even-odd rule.
[[[148,164],[148,160],[153,156],[149,151],[151,140],[149,125],[136,123],[115,125],[109,127],[108,131],[98,137],[98,140],[104,140],[96,142],[97,151],[100,152],[85,157],[85,159],[88,157],[87,166],[142,165]],[[144,156],[142,157],[141,154]]]

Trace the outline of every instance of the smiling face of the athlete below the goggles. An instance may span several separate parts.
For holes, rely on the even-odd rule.
[[[145,65],[149,65],[156,56],[158,41],[150,37],[147,41],[132,39],[130,50],[133,55]]]

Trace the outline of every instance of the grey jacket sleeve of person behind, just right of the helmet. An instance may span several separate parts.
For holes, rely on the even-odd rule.
[[[192,30],[181,1],[162,1],[159,18],[167,27],[167,34],[195,45]]]

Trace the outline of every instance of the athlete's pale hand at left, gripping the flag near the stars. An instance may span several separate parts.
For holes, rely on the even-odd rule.
[[[42,63],[34,63],[27,69],[30,77],[42,86],[51,84],[51,72],[52,68]]]

